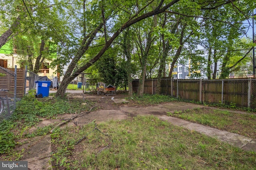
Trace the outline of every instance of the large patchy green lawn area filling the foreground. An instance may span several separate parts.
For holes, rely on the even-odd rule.
[[[54,169],[253,170],[256,167],[255,152],[152,116],[58,129],[52,134],[52,151]]]

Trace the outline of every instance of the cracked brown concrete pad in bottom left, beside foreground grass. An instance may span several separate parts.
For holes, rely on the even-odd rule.
[[[28,169],[30,170],[51,170],[51,137],[44,136],[40,140],[35,140],[28,149],[28,154],[22,158],[23,161],[28,161]],[[46,164],[48,162],[48,164]]]

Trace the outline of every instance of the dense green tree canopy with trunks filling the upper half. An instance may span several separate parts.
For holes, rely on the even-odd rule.
[[[248,34],[251,25],[243,22],[250,21],[255,3],[252,0],[43,0],[40,3],[3,0],[0,47],[16,37],[14,45],[19,47],[19,53],[30,57],[30,70],[33,64],[37,65],[34,72],[38,70],[38,62],[58,54],[50,66],[58,66],[61,74],[64,66],[68,65],[68,69],[57,96],[64,97],[68,84],[97,61],[98,74],[94,72],[92,77],[121,86],[127,86],[131,78],[140,78],[138,93],[142,94],[145,78],[172,76],[177,63],[189,61],[189,77],[200,78],[206,73],[209,79],[217,78],[218,62],[222,62],[220,78],[239,70],[240,63],[251,64],[253,44],[242,41],[241,37],[251,36]],[[207,57],[202,57],[198,45],[209,51]],[[104,59],[100,61],[101,58]],[[132,64],[136,72],[132,72]]]

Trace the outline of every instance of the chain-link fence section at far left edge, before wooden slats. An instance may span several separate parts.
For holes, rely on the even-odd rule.
[[[8,119],[16,108],[16,68],[15,72],[0,67],[0,122]]]

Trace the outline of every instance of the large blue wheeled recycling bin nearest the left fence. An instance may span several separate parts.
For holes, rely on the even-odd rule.
[[[51,81],[35,81],[36,83],[36,97],[46,98],[49,96]]]

